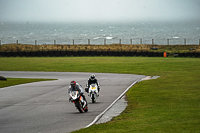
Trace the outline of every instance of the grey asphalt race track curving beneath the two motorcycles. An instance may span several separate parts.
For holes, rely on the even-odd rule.
[[[95,73],[100,97],[92,103],[86,95],[87,113],[68,101],[71,80],[85,88],[91,73],[0,71],[6,78],[58,79],[0,89],[0,133],[66,133],[89,125],[127,87],[144,75]]]

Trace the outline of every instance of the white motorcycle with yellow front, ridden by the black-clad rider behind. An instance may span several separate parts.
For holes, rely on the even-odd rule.
[[[96,84],[91,84],[89,88],[89,95],[92,103],[95,103],[97,98],[99,97],[98,86]]]

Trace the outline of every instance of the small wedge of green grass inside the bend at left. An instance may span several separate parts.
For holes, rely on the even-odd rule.
[[[13,85],[19,85],[19,84],[25,84],[25,83],[31,83],[31,82],[47,81],[47,80],[50,80],[50,79],[7,78],[7,81],[0,80],[0,88],[13,86]]]

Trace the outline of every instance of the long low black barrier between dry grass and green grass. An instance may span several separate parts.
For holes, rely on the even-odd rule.
[[[32,51],[0,52],[0,57],[64,57],[64,56],[143,56],[143,57],[200,57],[200,52],[163,53],[147,51]]]

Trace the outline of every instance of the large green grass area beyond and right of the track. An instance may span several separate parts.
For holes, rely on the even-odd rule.
[[[0,70],[156,75],[127,92],[128,106],[112,121],[82,132],[200,132],[200,59],[148,57],[0,58]],[[97,77],[98,78],[98,77]]]

